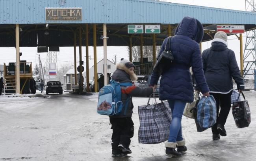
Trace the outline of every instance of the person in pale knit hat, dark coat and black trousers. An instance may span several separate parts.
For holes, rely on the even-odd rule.
[[[202,53],[204,75],[210,94],[213,95],[217,105],[217,123],[211,127],[213,140],[220,139],[220,135],[226,136],[224,124],[230,111],[233,79],[236,81],[238,90],[245,88],[235,53],[227,47],[227,39],[226,33],[217,32],[211,42],[211,48]],[[221,106],[220,112],[219,106]]]

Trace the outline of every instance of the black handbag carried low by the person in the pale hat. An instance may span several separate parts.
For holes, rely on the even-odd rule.
[[[250,107],[246,100],[238,101],[240,98],[240,94],[242,93],[243,98],[245,99],[245,95],[243,92],[239,92],[236,102],[233,103],[232,106],[232,114],[236,123],[237,128],[248,127],[250,124]]]

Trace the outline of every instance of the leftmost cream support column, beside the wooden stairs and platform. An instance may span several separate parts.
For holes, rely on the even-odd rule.
[[[16,93],[20,94],[20,33],[19,24],[16,24],[15,29],[15,41],[16,41]]]

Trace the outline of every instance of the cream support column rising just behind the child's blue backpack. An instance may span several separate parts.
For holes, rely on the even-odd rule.
[[[104,86],[108,84],[107,39],[107,25],[103,24]]]

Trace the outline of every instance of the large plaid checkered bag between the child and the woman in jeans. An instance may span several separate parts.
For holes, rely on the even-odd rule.
[[[172,120],[169,103],[165,101],[158,104],[138,106],[138,111],[139,143],[158,144],[166,141],[169,137]]]

